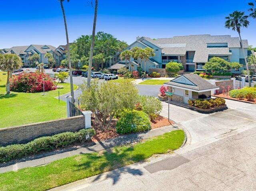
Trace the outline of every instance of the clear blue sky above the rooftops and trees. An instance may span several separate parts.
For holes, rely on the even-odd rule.
[[[90,0],[64,2],[70,41],[91,34],[94,10]],[[225,16],[248,10],[253,0],[98,0],[96,31],[111,33],[132,43],[136,36],[232,35],[224,28]],[[248,1],[248,2],[247,2]],[[203,2],[203,3],[202,3]],[[256,47],[256,20],[250,19],[242,38]],[[58,0],[0,0],[0,48],[18,45],[66,44]]]

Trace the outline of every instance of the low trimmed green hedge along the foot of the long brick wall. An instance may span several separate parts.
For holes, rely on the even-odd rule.
[[[86,139],[88,135],[89,138]],[[53,136],[40,137],[26,144],[14,144],[0,147],[0,163],[31,156],[42,151],[51,151],[75,142],[84,143],[90,140],[94,135],[95,130],[89,128],[82,129],[78,132],[64,132]]]

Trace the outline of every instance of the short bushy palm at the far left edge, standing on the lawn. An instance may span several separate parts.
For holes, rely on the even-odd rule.
[[[10,74],[22,65],[20,57],[16,54],[0,55],[0,69],[7,72],[6,94],[10,94]]]

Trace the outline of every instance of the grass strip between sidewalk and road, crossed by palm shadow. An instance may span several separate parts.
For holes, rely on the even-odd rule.
[[[0,174],[1,191],[42,191],[178,149],[183,130],[175,130],[134,146],[117,146],[108,151],[80,154],[41,167]]]

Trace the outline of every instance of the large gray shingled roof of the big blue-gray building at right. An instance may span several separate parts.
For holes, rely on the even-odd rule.
[[[208,55],[231,55],[229,48],[240,48],[239,37],[230,35],[188,35],[174,36],[173,38],[151,39],[142,37],[150,43],[162,48],[165,55],[185,55],[186,51],[195,51],[194,62],[204,63],[208,61]],[[228,43],[228,48],[207,48],[207,43]],[[245,48],[248,48],[248,41],[243,40]]]

